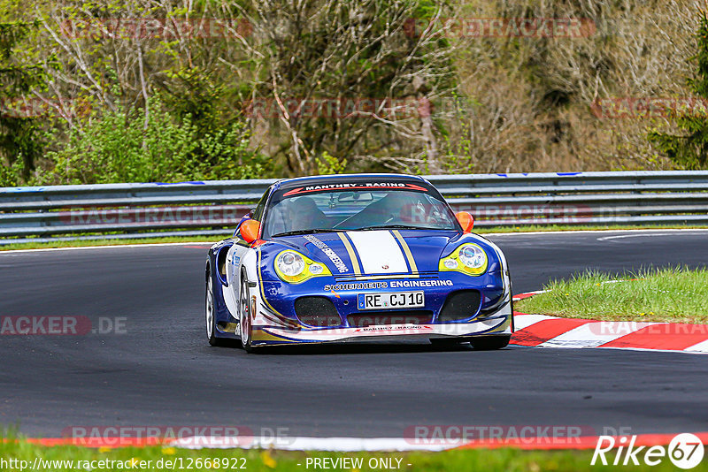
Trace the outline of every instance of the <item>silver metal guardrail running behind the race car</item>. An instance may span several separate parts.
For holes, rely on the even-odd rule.
[[[427,179],[454,209],[472,212],[478,227],[708,225],[708,171],[467,174]],[[0,188],[0,244],[50,236],[227,234],[273,181]]]

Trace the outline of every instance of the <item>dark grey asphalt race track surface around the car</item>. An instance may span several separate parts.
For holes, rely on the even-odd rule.
[[[611,238],[611,239],[607,239]],[[597,269],[708,264],[708,231],[497,235],[514,292]],[[280,354],[210,347],[205,245],[0,254],[0,315],[124,318],[124,334],[0,337],[0,424],[285,428],[402,437],[413,425],[708,430],[708,357],[427,343]],[[266,430],[268,431],[268,430]]]

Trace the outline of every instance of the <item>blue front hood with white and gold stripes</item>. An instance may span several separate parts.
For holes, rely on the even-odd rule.
[[[324,263],[335,277],[437,272],[441,257],[464,242],[475,242],[489,255],[496,251],[481,237],[440,230],[375,230],[319,232],[274,238],[268,252],[285,246]],[[266,247],[264,247],[264,250]],[[274,254],[273,254],[274,255]]]

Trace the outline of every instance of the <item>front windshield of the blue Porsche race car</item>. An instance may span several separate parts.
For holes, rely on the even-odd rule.
[[[355,189],[273,196],[266,212],[265,237],[324,231],[459,229],[450,208],[425,192]]]

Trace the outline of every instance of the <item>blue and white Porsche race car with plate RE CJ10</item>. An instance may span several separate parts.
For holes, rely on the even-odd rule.
[[[261,346],[407,337],[506,346],[502,251],[426,179],[350,174],[274,183],[209,250],[209,343]]]

